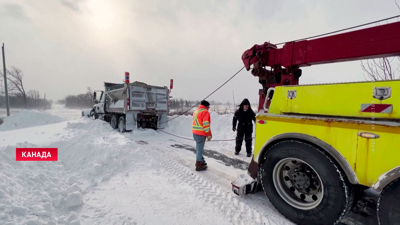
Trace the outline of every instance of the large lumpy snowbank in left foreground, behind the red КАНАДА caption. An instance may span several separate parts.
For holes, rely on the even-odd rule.
[[[109,123],[78,120],[65,129],[69,139],[47,146],[24,142],[0,147],[0,224],[50,225],[58,220],[80,224],[76,213],[62,216],[80,210],[84,194],[99,183],[144,163],[142,145],[114,131]],[[149,132],[155,133],[142,135]],[[58,161],[16,161],[15,149],[27,147],[58,148]]]

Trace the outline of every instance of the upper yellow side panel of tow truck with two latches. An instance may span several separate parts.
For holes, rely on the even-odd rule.
[[[380,88],[384,87],[391,87],[390,97],[383,100],[374,98],[375,88],[382,90]],[[290,90],[296,90],[296,97],[293,99],[288,98]],[[371,118],[371,112],[361,112],[361,104],[399,104],[399,102],[400,80],[277,86],[269,112]],[[377,113],[374,117],[400,119],[400,106],[392,107],[392,113]]]

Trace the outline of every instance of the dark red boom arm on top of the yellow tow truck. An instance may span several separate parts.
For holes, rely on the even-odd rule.
[[[298,84],[302,66],[389,56],[400,56],[400,22],[288,42],[282,48],[269,42],[256,44],[243,53],[242,60],[247,70],[253,65],[251,73],[263,86],[259,92],[260,110],[268,88]]]

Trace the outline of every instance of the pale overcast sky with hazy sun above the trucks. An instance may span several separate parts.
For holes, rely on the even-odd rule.
[[[24,72],[25,90],[49,99],[86,86],[101,90],[128,71],[132,81],[158,86],[173,78],[171,96],[201,100],[243,67],[242,53],[254,44],[400,14],[394,0],[329,2],[0,0],[0,42],[7,68]],[[302,70],[300,84],[365,80],[359,61]],[[209,99],[232,102],[233,89],[236,101],[254,103],[259,88],[258,78],[242,70]]]

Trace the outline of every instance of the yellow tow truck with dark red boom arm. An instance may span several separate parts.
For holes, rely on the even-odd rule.
[[[264,191],[290,221],[310,225],[339,223],[374,189],[379,223],[399,224],[400,80],[298,84],[303,66],[390,56],[400,56],[400,22],[246,50],[262,89],[254,155],[232,191]]]

